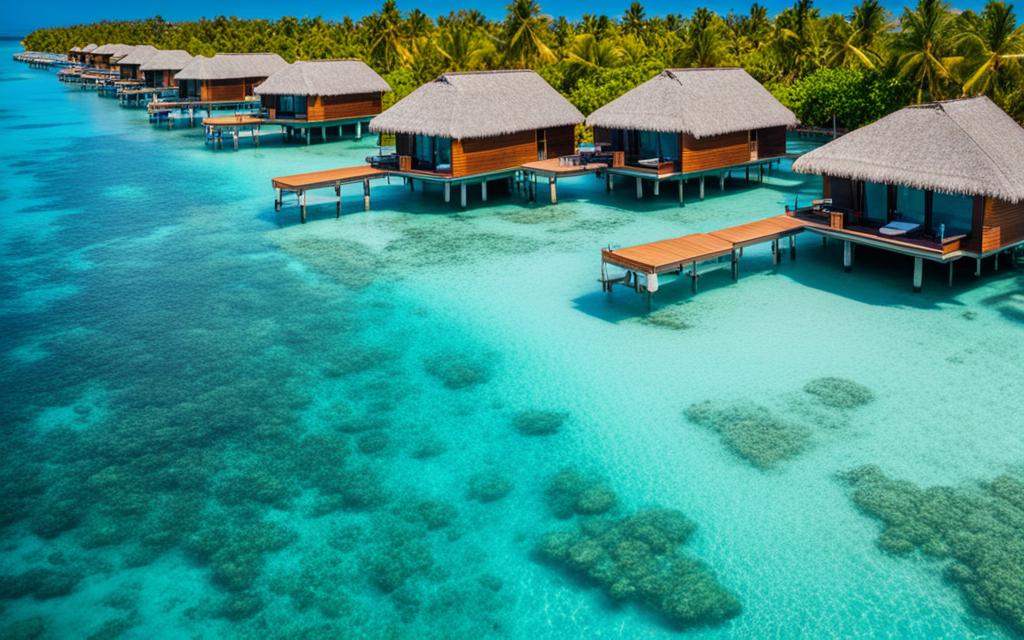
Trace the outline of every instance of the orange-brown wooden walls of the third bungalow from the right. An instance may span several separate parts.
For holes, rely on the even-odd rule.
[[[415,135],[395,135],[399,156],[413,156]],[[559,158],[575,152],[575,127],[529,129],[482,138],[452,140],[452,177],[460,178],[516,168],[541,158]]]

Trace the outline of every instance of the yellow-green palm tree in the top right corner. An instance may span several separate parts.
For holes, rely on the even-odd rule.
[[[999,0],[985,5],[980,17],[964,19],[957,39],[968,55],[964,95],[993,93],[1006,88],[1008,78],[1020,79],[1024,58],[1024,26],[1017,26],[1013,5]],[[1019,85],[1019,83],[1018,83]]]

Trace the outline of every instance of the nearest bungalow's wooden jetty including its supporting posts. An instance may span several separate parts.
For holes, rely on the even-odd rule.
[[[737,224],[708,233],[690,233],[670,240],[660,240],[645,245],[624,249],[603,249],[601,251],[601,286],[610,292],[613,285],[621,284],[637,292],[654,293],[658,289],[657,276],[662,273],[686,275],[692,279],[693,291],[702,273],[724,266],[732,269],[732,279],[739,278],[739,258],[743,247],[771,243],[772,262],[778,264],[779,244],[783,238],[790,239],[790,257],[796,258],[797,245],[794,236],[803,231],[808,224],[787,215],[772,216],[745,224]],[[721,258],[730,256],[728,263]],[[715,261],[711,266],[702,265]],[[626,274],[609,278],[608,264],[626,269]],[[641,282],[640,275],[643,276]]]

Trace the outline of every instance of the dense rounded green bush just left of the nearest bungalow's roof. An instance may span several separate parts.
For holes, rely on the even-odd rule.
[[[912,89],[879,72],[819,69],[793,85],[773,87],[776,97],[805,125],[855,129],[904,106]]]

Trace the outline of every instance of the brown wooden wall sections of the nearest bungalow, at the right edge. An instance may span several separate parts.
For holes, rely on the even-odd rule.
[[[887,220],[894,219],[897,210],[898,185],[887,185]],[[865,183],[859,180],[822,176],[824,198],[843,211],[862,212],[865,207]],[[925,190],[925,224],[931,226],[934,191]],[[961,246],[974,253],[988,253],[1024,242],[1024,202],[1009,203],[997,198],[972,198],[971,229]]]

